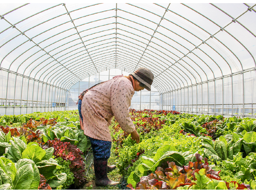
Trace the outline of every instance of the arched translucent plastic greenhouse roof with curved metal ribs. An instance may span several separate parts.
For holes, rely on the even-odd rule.
[[[0,68],[69,89],[111,68],[160,93],[256,68],[256,4],[1,4]]]

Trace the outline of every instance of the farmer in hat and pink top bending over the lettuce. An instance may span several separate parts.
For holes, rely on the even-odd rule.
[[[78,99],[81,129],[89,136],[94,154],[95,183],[99,186],[114,186],[114,182],[107,177],[107,172],[114,170],[115,165],[108,166],[110,157],[111,135],[108,126],[111,119],[115,119],[126,133],[130,133],[132,140],[140,142],[140,136],[132,123],[129,114],[131,99],[134,91],[151,90],[154,75],[147,68],[138,68],[129,76],[115,76],[111,80],[99,83],[86,89]]]

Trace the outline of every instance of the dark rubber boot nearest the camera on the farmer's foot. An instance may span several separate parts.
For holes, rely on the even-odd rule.
[[[115,186],[119,182],[115,182],[107,178],[107,160],[94,161],[95,184],[98,186]]]

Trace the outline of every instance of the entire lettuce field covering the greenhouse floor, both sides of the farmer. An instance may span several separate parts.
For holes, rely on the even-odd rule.
[[[111,163],[120,177],[112,189],[256,189],[255,119],[130,114],[141,141],[112,121]],[[0,152],[0,189],[106,189],[88,184],[90,141],[77,110],[1,116]]]

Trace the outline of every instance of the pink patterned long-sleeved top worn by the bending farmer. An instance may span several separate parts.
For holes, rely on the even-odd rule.
[[[83,116],[81,128],[85,135],[98,140],[111,141],[108,126],[113,116],[124,132],[133,132],[135,126],[128,109],[133,94],[132,82],[123,75],[115,76],[85,93],[81,105]]]

